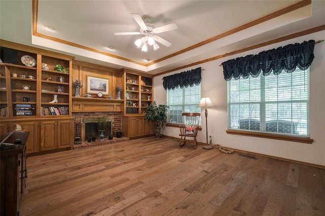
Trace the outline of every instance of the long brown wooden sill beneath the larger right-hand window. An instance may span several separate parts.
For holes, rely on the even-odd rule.
[[[293,141],[293,142],[303,142],[308,144],[311,144],[314,141],[313,139],[307,137],[263,133],[263,132],[251,132],[251,131],[243,131],[243,130],[226,130],[226,133],[243,135],[243,136],[255,136],[255,137],[268,138],[268,139],[280,139],[280,140]]]

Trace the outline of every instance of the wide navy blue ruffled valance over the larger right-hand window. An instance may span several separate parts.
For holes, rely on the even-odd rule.
[[[291,73],[296,67],[305,70],[314,59],[314,45],[314,40],[304,41],[222,62],[224,79],[247,79],[249,75],[258,77],[261,70],[264,76],[272,71],[274,75],[280,74],[282,70]]]

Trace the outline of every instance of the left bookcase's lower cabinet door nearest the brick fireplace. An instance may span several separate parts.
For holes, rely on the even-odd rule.
[[[57,148],[69,148],[73,145],[73,121],[65,120],[57,123]]]

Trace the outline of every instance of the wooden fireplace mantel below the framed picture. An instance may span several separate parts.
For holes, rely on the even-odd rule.
[[[72,112],[122,112],[124,100],[72,97]]]

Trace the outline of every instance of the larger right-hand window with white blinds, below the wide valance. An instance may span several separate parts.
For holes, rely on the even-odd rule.
[[[309,69],[229,81],[228,128],[309,136]]]

